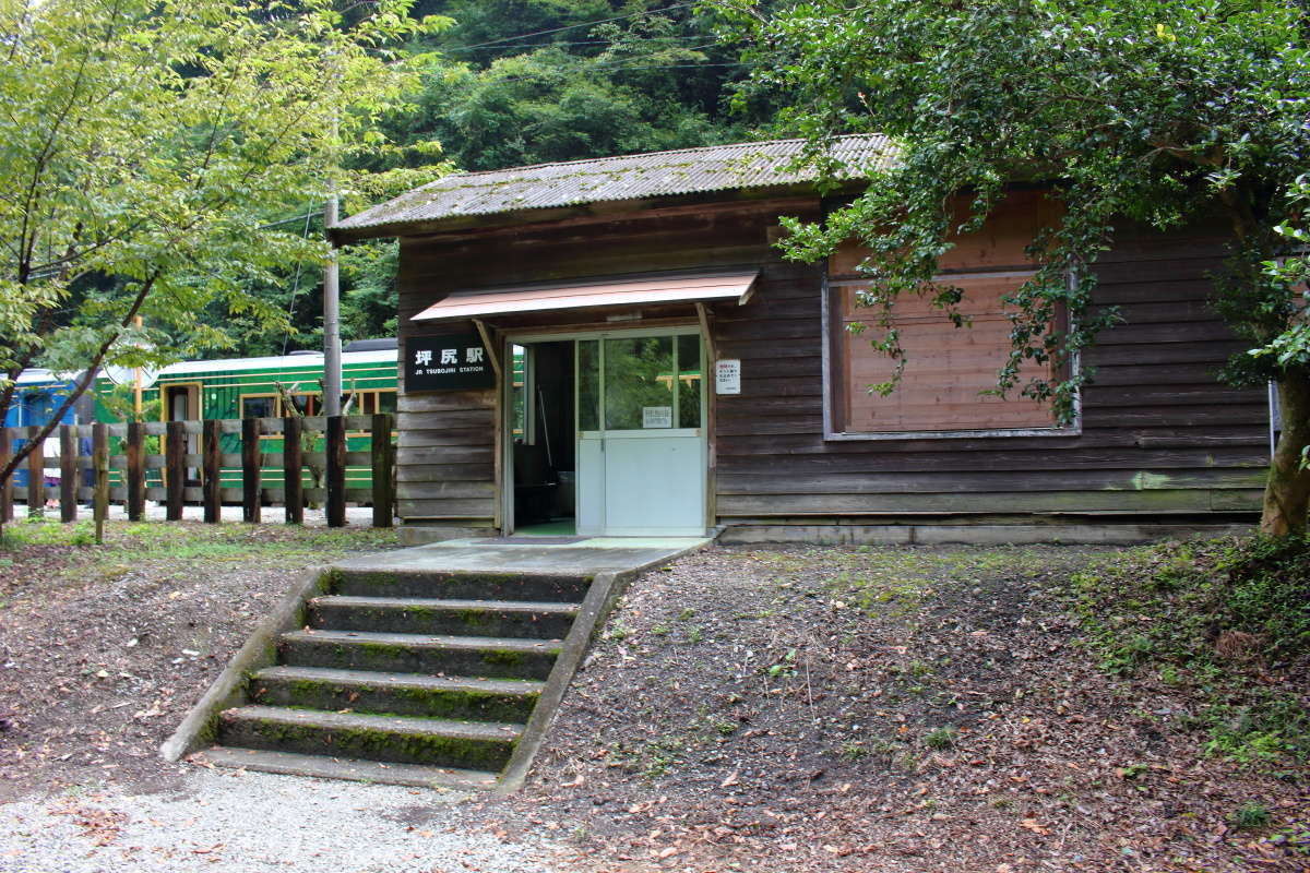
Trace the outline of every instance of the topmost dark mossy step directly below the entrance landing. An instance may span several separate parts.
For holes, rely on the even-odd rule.
[[[548,601],[580,603],[591,576],[482,573],[470,571],[331,571],[331,593],[354,597],[432,597],[449,599]]]

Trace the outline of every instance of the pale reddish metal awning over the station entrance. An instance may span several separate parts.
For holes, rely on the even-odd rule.
[[[749,270],[639,279],[601,279],[561,285],[456,291],[414,315],[414,321],[715,300],[735,300],[738,305],[741,305],[751,298],[751,292],[755,291],[755,281],[758,277],[758,270]]]

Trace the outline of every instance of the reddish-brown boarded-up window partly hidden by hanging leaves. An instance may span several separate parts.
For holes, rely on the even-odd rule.
[[[950,317],[926,298],[896,301],[892,325],[905,351],[901,382],[889,395],[870,391],[891,380],[895,361],[872,348],[883,335],[878,313],[859,306],[858,283],[834,288],[833,319],[834,420],[845,433],[938,433],[956,431],[1027,431],[1052,428],[1051,408],[1011,391],[1006,398],[986,394],[996,387],[997,370],[1010,353],[1010,319],[1002,296],[1030,274],[1017,271],[942,276],[964,291],[959,312],[971,326],[955,327]],[[850,330],[863,323],[863,332]],[[1040,372],[1031,365],[1022,376]],[[1020,380],[1022,385],[1022,380]]]

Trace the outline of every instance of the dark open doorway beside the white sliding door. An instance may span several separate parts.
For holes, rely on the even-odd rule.
[[[571,537],[578,530],[574,342],[525,343],[511,353],[514,530]]]

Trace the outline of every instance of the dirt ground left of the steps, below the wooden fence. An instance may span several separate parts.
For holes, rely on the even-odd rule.
[[[7,526],[0,802],[110,780],[176,784],[159,746],[296,575],[392,531],[111,522]],[[12,541],[17,542],[12,542]],[[81,544],[75,544],[73,542]]]

